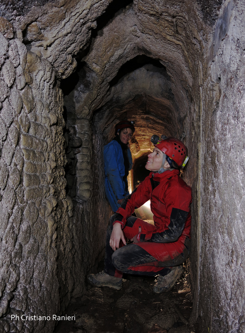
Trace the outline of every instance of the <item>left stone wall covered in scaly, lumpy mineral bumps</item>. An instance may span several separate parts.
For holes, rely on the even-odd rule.
[[[60,313],[81,278],[73,265],[80,225],[65,191],[63,95],[51,64],[13,38],[8,22],[1,28],[0,326],[51,332],[53,320],[21,315]]]

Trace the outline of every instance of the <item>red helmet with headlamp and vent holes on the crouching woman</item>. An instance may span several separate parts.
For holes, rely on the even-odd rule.
[[[156,136],[157,137],[157,136]],[[153,136],[152,136],[153,138]],[[172,159],[178,166],[182,166],[186,158],[186,147],[182,141],[176,138],[165,138],[159,139],[154,146],[164,154],[166,154],[170,159]]]

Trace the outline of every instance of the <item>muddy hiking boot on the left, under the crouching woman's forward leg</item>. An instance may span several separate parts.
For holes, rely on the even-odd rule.
[[[94,287],[109,287],[116,290],[122,289],[122,278],[108,275],[104,271],[87,276],[89,284]]]

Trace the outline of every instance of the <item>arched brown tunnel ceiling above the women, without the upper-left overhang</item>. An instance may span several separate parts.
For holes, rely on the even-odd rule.
[[[77,79],[64,100],[71,118],[92,119],[106,142],[118,121],[134,120],[134,157],[149,150],[155,131],[180,137],[210,31],[197,3],[164,5],[134,1],[103,24],[99,19],[86,53],[77,55]]]

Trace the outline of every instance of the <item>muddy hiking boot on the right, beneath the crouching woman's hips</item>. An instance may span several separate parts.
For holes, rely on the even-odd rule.
[[[159,275],[157,283],[153,287],[153,292],[159,294],[163,291],[170,291],[173,289],[175,282],[184,274],[183,266],[175,266],[167,275]]]

